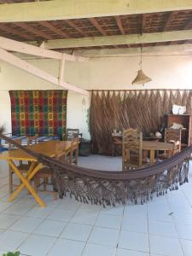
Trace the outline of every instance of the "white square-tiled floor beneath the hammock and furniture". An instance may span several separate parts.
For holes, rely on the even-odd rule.
[[[79,166],[121,170],[119,157],[91,155]],[[192,165],[189,183],[145,205],[102,208],[23,190],[8,202],[8,167],[0,161],[0,255],[192,256]]]

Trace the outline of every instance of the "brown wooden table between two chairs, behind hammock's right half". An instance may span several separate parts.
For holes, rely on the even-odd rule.
[[[154,164],[154,151],[166,150],[168,152],[168,157],[172,156],[172,143],[160,143],[154,141],[143,141],[143,150],[150,151],[150,165]]]

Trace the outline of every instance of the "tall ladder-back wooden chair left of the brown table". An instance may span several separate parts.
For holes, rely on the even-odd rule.
[[[123,171],[131,171],[147,165],[147,159],[143,159],[143,134],[134,129],[123,131]]]

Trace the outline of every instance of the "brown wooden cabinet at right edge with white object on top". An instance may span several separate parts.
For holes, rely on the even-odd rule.
[[[181,136],[182,148],[192,144],[191,120],[192,116],[190,114],[168,114],[166,116],[166,125],[168,128],[172,126],[173,123],[183,125]]]

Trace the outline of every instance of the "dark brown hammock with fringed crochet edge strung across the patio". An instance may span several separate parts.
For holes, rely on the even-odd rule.
[[[69,193],[78,201],[103,207],[115,206],[115,203],[125,204],[126,201],[143,204],[152,199],[154,194],[164,195],[168,189],[178,189],[178,184],[188,182],[192,146],[153,166],[130,172],[110,172],[64,164],[23,147],[3,134],[0,137],[49,166],[60,198]]]

